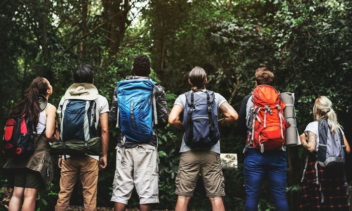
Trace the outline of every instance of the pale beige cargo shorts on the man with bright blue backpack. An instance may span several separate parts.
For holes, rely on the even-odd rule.
[[[156,149],[148,144],[134,148],[116,147],[116,171],[111,201],[127,204],[133,187],[139,195],[139,203],[158,203],[158,164]],[[123,162],[121,163],[121,159]]]

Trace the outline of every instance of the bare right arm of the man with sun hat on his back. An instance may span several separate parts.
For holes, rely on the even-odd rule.
[[[103,157],[100,158],[100,168],[105,169],[107,166],[108,145],[109,145],[109,113],[105,112],[99,115],[100,126],[102,129],[102,151]]]

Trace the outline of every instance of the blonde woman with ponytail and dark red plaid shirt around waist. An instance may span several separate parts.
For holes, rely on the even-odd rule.
[[[349,154],[348,142],[342,131],[342,126],[337,122],[337,115],[332,108],[332,103],[327,97],[320,96],[315,100],[313,114],[316,121],[309,123],[305,132],[300,135],[302,147],[308,151],[306,167],[301,180],[300,210],[348,210],[344,169],[341,167],[323,168],[317,162],[319,147],[322,149],[324,147],[319,144],[318,120],[327,120],[329,130],[327,132],[331,134],[331,136],[328,135],[331,139],[328,138],[327,142],[340,140],[342,135],[344,145],[341,148],[344,149],[345,146],[345,153]],[[324,121],[321,122],[324,123]]]

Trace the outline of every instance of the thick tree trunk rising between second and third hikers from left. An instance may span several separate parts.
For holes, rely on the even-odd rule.
[[[119,52],[127,24],[127,15],[130,10],[129,0],[104,0],[104,16],[108,21],[106,25],[107,47],[110,49],[110,55]]]

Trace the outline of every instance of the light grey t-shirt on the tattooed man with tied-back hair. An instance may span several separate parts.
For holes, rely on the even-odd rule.
[[[206,90],[204,89],[204,90],[201,90],[201,91],[205,92]],[[198,93],[195,92],[195,95],[197,95],[197,94]],[[219,113],[219,107],[221,106],[221,104],[227,102],[227,100],[223,96],[221,96],[219,93],[216,93],[216,92],[214,92],[214,100],[215,100],[216,106],[218,108],[218,113]],[[186,105],[186,95],[185,94],[180,95],[175,100],[175,103],[173,105],[180,105],[182,108],[184,108],[185,105]],[[214,146],[212,146],[210,148],[203,148],[203,149],[210,150],[210,151],[213,151],[214,153],[220,154],[220,140]],[[181,144],[180,153],[191,151],[191,150],[195,150],[195,149],[190,148],[189,146],[186,145],[186,143],[185,143],[185,133],[184,133],[184,135],[182,137],[182,144]]]

